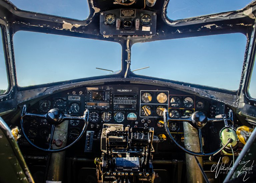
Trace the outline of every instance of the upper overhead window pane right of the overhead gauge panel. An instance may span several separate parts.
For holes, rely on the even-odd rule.
[[[170,0],[167,17],[178,20],[201,15],[234,11],[244,8],[253,0]]]

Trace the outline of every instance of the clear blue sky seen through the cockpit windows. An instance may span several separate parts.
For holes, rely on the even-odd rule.
[[[20,9],[80,20],[86,19],[89,15],[87,1],[83,0],[11,2]],[[176,20],[237,10],[250,2],[251,0],[170,0],[167,15],[170,19]],[[148,69],[135,72],[235,90],[241,76],[245,44],[246,38],[242,34],[138,43],[132,47],[131,69],[150,66]],[[152,48],[156,49],[153,55],[150,54]],[[17,32],[14,35],[14,49],[20,86],[109,73],[95,67],[121,69],[121,46],[118,43]],[[168,54],[158,57],[163,49]],[[2,54],[0,48],[0,77],[4,78],[6,73]],[[40,71],[35,67],[39,67]],[[0,88],[7,88],[6,83],[6,79],[1,79]]]

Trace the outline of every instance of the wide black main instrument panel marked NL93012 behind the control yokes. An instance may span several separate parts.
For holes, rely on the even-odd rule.
[[[160,141],[166,140],[163,122],[165,109],[171,118],[190,116],[195,111],[203,111],[208,117],[224,112],[224,105],[220,102],[169,88],[137,84],[70,89],[52,94],[30,106],[28,110],[31,113],[45,114],[52,108],[74,116],[82,116],[88,109],[90,113],[87,132],[93,134],[94,139],[100,139],[104,124],[123,124],[124,127],[153,127]],[[44,142],[50,133],[47,121],[37,118],[26,120],[29,137],[38,143]],[[82,127],[82,122],[70,120],[68,139],[75,140]],[[169,129],[175,138],[182,141],[182,123],[171,122]]]

